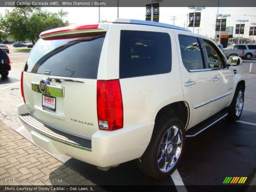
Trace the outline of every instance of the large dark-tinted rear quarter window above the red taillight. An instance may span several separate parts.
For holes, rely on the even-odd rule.
[[[171,54],[171,39],[167,33],[122,30],[119,77],[169,73]]]

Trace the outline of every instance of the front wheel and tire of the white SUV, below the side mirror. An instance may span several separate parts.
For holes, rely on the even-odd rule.
[[[244,88],[240,85],[237,85],[234,98],[228,109],[227,118],[230,120],[238,120],[244,108]]]

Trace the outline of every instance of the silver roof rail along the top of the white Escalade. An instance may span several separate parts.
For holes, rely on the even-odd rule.
[[[137,24],[137,25],[149,25],[149,26],[156,26],[156,27],[164,27],[164,28],[171,28],[171,29],[178,29],[182,31],[191,32],[191,30],[178,27],[175,25],[169,25],[166,23],[159,23],[154,21],[144,21],[144,20],[134,20],[134,19],[116,19],[113,23],[129,23],[129,24]]]

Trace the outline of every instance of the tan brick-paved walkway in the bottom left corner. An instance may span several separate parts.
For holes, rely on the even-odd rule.
[[[0,185],[94,184],[0,121]]]

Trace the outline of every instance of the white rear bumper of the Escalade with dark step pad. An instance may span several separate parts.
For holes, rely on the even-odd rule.
[[[115,131],[99,130],[92,139],[71,138],[67,133],[51,128],[39,122],[47,129],[38,129],[38,120],[29,115],[26,104],[18,107],[22,124],[31,133],[35,144],[55,154],[65,154],[89,164],[108,167],[139,158],[146,150],[153,132],[154,121],[136,124]],[[27,119],[24,118],[27,116]],[[28,118],[29,117],[29,118]],[[61,139],[62,136],[62,139]],[[73,135],[74,137],[74,135]],[[86,142],[80,142],[86,140]],[[76,142],[76,143],[74,143]]]

